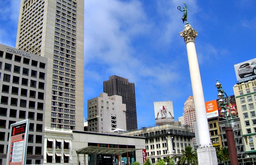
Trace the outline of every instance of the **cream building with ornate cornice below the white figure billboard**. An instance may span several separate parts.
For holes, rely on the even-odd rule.
[[[181,126],[177,123],[144,127],[142,129],[124,133],[124,135],[146,137],[147,158],[151,163],[167,156],[181,155],[181,150],[186,146],[193,146],[190,126]],[[174,161],[178,161],[174,159]]]

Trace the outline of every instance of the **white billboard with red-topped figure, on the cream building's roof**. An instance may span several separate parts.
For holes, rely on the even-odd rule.
[[[156,124],[174,122],[173,102],[154,102],[154,117]]]

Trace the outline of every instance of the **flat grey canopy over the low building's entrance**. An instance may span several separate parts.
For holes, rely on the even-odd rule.
[[[126,152],[131,152],[134,150],[142,150],[136,148],[106,148],[106,147],[95,147],[95,146],[88,146],[84,147],[80,150],[76,151],[76,154],[116,154],[121,155]]]

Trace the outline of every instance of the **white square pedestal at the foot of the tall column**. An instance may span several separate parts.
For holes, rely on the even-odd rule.
[[[215,147],[197,149],[198,165],[218,165]]]

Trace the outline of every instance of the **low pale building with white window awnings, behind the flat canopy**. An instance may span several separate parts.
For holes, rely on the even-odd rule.
[[[77,165],[76,151],[88,146],[137,149],[136,151],[122,154],[121,161],[124,161],[124,164],[132,164],[134,161],[139,161],[142,164],[142,149],[145,149],[145,138],[58,128],[45,128],[44,146],[44,164],[46,165],[56,165],[56,163]],[[89,161],[95,156],[97,156],[97,152],[95,152],[94,155],[85,155],[86,165],[88,165]],[[79,155],[79,161],[83,164],[83,155]]]

